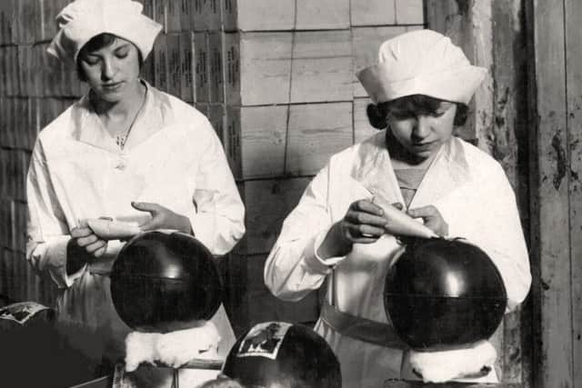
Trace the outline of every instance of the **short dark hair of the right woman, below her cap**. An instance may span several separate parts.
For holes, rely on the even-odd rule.
[[[380,104],[368,104],[366,107],[367,119],[370,124],[377,129],[385,129],[387,126],[387,116],[392,109],[405,112],[417,112],[419,114],[434,114],[438,106],[446,100],[441,100],[429,95],[406,95]],[[467,104],[457,104],[457,112],[453,124],[455,126],[464,125],[467,122],[469,107]]]

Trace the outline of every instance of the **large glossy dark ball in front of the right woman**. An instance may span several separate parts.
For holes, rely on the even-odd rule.
[[[398,336],[438,350],[488,339],[507,293],[489,256],[460,239],[416,239],[386,274],[384,303]]]

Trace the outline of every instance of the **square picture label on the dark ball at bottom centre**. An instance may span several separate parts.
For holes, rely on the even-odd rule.
[[[240,343],[237,357],[262,356],[276,359],[281,343],[291,323],[266,322],[259,323],[246,334]]]

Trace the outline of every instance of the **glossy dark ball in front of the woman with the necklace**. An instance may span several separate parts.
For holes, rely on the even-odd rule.
[[[186,329],[222,302],[213,255],[189,234],[146,232],[121,249],[111,277],[120,318],[142,332]]]

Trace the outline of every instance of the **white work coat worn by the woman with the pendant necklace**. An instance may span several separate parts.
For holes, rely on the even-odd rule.
[[[124,150],[85,95],[39,134],[27,176],[26,258],[58,285],[59,323],[97,360],[123,356],[130,331],[115,313],[107,275],[124,243],[109,241],[103,257],[67,275],[66,244],[75,226],[102,216],[143,220],[149,215],[131,206],[136,201],[186,215],[213,254],[226,254],[245,232],[244,205],[211,124],[194,107],[146,86]],[[226,355],[235,337],[223,306],[212,321]]]

